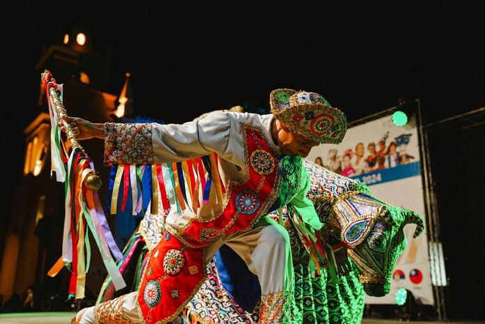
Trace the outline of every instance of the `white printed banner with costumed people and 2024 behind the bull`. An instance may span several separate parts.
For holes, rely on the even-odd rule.
[[[341,144],[313,148],[307,159],[321,161],[327,169],[357,178],[379,199],[411,209],[424,219],[415,118],[410,118],[404,127],[394,125],[391,116],[387,116],[349,128]],[[397,261],[390,293],[381,298],[366,295],[367,304],[395,304],[399,288],[408,289],[423,304],[434,304],[426,229],[413,239],[414,229],[414,224],[405,227],[408,245]]]

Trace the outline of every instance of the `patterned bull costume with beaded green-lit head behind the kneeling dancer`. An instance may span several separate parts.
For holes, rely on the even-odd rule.
[[[321,276],[312,276],[308,267],[310,255],[289,222],[285,209],[283,223],[289,232],[295,273],[292,323],[360,323],[364,289],[370,295],[387,293],[392,270],[406,246],[403,228],[410,222],[418,224],[415,233],[418,235],[422,231],[422,219],[409,210],[379,201],[356,180],[308,161],[303,164],[310,176],[308,198],[313,201],[321,222],[331,231],[328,243],[334,250],[342,246],[352,247],[349,252],[351,271],[338,280],[331,268],[322,269]],[[161,215],[145,215],[132,242],[144,240],[149,249],[154,248],[164,233],[161,219]],[[128,250],[135,250],[134,245],[130,243]],[[228,251],[222,249],[218,254],[228,254]],[[143,257],[139,260],[141,263]],[[253,303],[251,295],[260,293],[259,284],[251,277],[228,281],[224,268],[246,266],[237,258],[225,264],[221,261],[224,263],[225,259],[217,255],[207,265],[207,280],[183,311],[186,321],[192,324],[257,323],[260,307]],[[106,287],[100,298],[112,298],[110,291],[112,284],[111,290]]]

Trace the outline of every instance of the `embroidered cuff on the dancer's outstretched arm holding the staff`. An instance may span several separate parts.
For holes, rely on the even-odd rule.
[[[153,164],[152,125],[105,123],[104,164]]]

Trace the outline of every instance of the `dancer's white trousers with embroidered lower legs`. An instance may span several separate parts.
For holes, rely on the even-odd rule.
[[[229,233],[212,242],[206,248],[205,261],[209,262],[223,244],[233,249],[260,281],[260,323],[289,323],[294,275],[286,229],[270,217],[264,217],[249,231]],[[77,321],[80,324],[141,323],[137,298],[138,292],[135,291],[82,309],[76,316]]]

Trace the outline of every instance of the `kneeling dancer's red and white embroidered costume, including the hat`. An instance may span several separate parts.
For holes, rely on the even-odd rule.
[[[321,143],[340,142],[347,127],[342,112],[317,93],[273,91],[271,109],[289,129]],[[260,323],[289,323],[289,237],[267,215],[291,203],[308,245],[318,244],[323,224],[305,196],[309,183],[301,157],[280,156],[269,140],[274,117],[214,112],[183,125],[106,124],[106,163],[160,166],[151,168],[160,189],[151,201],[153,208],[161,200],[166,233],[149,252],[138,291],[81,311],[80,323],[170,321],[203,284],[205,267],[223,244],[257,275]],[[138,169],[122,169],[128,187],[126,179],[136,178]]]

